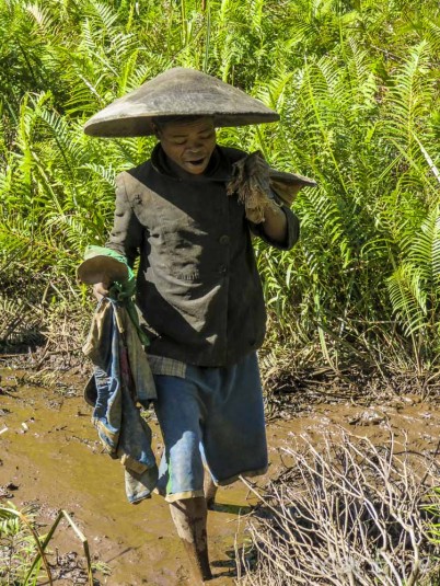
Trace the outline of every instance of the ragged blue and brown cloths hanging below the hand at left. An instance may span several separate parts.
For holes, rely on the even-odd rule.
[[[94,403],[92,422],[105,450],[120,458],[129,503],[138,503],[151,495],[158,480],[151,430],[138,402],[157,394],[147,355],[120,303],[101,300],[83,352],[95,366],[94,384],[85,389],[88,402]]]

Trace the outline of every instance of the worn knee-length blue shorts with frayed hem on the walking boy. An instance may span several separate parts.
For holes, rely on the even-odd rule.
[[[258,363],[251,353],[231,367],[187,365],[185,378],[155,375],[154,405],[165,450],[158,491],[172,502],[204,494],[204,462],[216,484],[267,470]]]

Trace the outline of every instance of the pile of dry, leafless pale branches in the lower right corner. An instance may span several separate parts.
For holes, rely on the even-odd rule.
[[[431,585],[440,575],[440,545],[428,538],[438,518],[426,510],[439,483],[436,455],[410,451],[391,432],[381,446],[346,432],[319,447],[302,441],[282,450],[292,463],[248,519],[240,583]],[[440,516],[439,502],[433,510]]]

